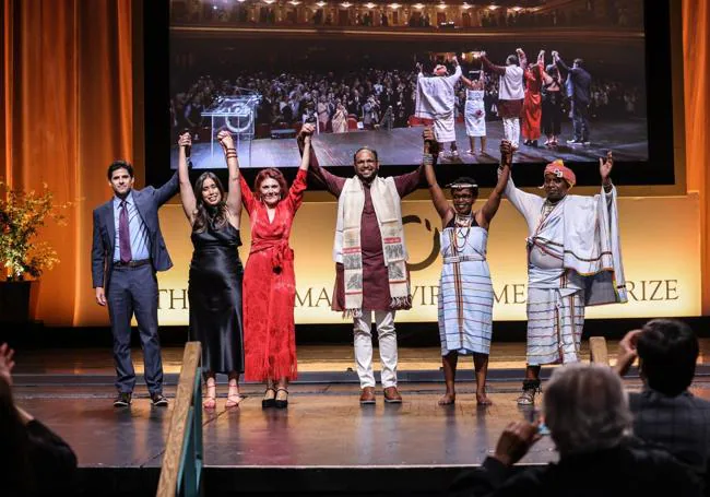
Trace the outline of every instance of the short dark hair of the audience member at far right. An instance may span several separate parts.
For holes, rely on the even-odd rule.
[[[653,319],[639,333],[639,367],[648,386],[676,397],[690,386],[698,359],[698,339],[676,319]]]

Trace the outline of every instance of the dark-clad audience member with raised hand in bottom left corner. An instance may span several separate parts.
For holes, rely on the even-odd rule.
[[[13,351],[0,345],[0,495],[73,495],[76,455],[12,397]]]

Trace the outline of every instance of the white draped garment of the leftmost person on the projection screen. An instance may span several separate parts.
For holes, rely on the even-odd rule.
[[[434,119],[434,137],[439,143],[453,142],[455,95],[453,87],[461,78],[461,66],[450,76],[417,76],[414,116]]]

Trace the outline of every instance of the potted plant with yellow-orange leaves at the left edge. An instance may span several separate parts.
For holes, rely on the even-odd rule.
[[[64,225],[70,205],[56,204],[46,184],[40,192],[25,192],[0,180],[0,322],[34,316],[38,279],[59,263],[57,251],[36,239],[37,232],[48,220]]]

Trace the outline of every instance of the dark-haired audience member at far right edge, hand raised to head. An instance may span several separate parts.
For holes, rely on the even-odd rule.
[[[634,435],[664,447],[705,482],[710,494],[710,402],[688,391],[698,360],[698,339],[686,323],[654,319],[619,343],[616,370],[624,376],[639,358],[643,390],[629,394]]]

